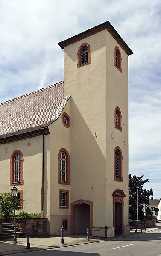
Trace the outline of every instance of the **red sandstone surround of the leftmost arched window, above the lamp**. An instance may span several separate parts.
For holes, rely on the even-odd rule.
[[[20,154],[20,181],[15,181],[15,177],[14,177],[14,158],[16,154]],[[13,151],[11,157],[10,157],[10,185],[13,184],[23,184],[23,154],[20,150],[15,150]]]

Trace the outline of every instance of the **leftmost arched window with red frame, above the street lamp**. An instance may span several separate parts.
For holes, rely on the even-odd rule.
[[[23,184],[23,155],[20,150],[15,150],[10,158],[10,185]]]

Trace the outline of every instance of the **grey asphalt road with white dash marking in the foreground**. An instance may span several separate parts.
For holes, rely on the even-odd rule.
[[[18,256],[161,256],[161,226],[147,233],[118,237],[108,241],[81,244]]]

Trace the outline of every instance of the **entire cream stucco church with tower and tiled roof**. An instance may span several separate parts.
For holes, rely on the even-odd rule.
[[[107,21],[59,42],[64,82],[0,104],[0,192],[63,226],[129,234],[128,56]],[[93,230],[92,230],[93,229]]]

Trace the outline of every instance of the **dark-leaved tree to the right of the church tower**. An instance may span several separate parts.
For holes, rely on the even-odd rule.
[[[144,175],[132,177],[129,174],[129,218],[132,220],[137,219],[137,188],[138,188],[138,219],[144,217],[143,207],[149,205],[149,198],[153,195],[152,188],[147,190],[143,188],[148,179],[142,179]],[[152,212],[147,209],[147,217],[152,218]]]

